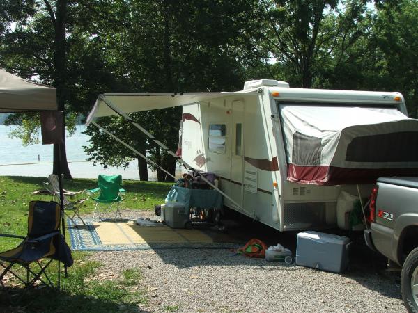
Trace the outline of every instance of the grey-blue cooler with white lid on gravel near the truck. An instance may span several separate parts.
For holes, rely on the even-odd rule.
[[[297,234],[296,264],[341,273],[348,266],[350,239],[323,232]]]

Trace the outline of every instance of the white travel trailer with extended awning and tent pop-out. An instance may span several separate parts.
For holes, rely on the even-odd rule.
[[[341,190],[366,197],[377,177],[418,175],[418,121],[400,93],[263,79],[238,93],[104,94],[88,122],[170,106],[183,106],[185,163],[219,177],[227,207],[277,230],[334,227]]]

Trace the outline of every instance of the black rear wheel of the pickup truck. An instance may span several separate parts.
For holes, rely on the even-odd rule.
[[[408,312],[418,312],[418,248],[410,252],[402,268],[401,289]]]

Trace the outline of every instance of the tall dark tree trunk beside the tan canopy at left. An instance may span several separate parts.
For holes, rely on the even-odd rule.
[[[45,0],[45,3],[49,4]],[[51,11],[51,20],[54,25],[54,86],[56,88],[56,101],[59,111],[64,112],[63,143],[58,147],[54,145],[54,173],[58,173],[58,164],[61,163],[61,173],[65,179],[72,179],[68,168],[67,154],[65,152],[65,97],[66,97],[66,55],[65,55],[65,23],[67,19],[68,0],[56,0],[55,15]],[[49,6],[50,8],[50,6]],[[59,162],[59,150],[61,150],[61,162]]]

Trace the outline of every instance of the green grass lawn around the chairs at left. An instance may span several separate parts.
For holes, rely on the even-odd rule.
[[[51,200],[49,196],[32,195],[33,191],[42,189],[42,183],[46,181],[45,177],[0,177],[0,234],[26,235],[29,202]],[[155,204],[164,202],[171,184],[124,180],[126,195],[122,208],[153,209]],[[96,186],[97,179],[64,182],[64,188],[70,191]],[[88,200],[80,211],[92,213],[93,209],[94,202]],[[0,251],[14,248],[19,243],[20,239],[0,237]],[[137,312],[139,305],[146,303],[143,291],[137,286],[141,279],[137,268],[114,273],[108,279],[107,273],[100,273],[102,264],[88,261],[87,255],[84,252],[73,253],[75,264],[68,268],[68,278],[62,280],[61,294],[49,289],[33,290],[24,297],[20,307],[8,307],[4,295],[0,294],[0,312]],[[56,267],[51,268],[49,273],[56,278]],[[10,283],[16,285],[13,280]]]

